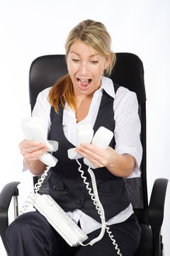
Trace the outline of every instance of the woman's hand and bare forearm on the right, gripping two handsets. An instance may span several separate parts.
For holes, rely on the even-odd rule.
[[[82,143],[77,146],[77,153],[89,159],[97,168],[106,166],[115,176],[128,177],[135,166],[135,159],[129,154],[118,154],[111,146],[106,150],[92,144]]]

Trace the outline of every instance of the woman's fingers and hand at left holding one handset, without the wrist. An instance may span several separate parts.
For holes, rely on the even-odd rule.
[[[36,161],[49,149],[45,146],[45,143],[34,142],[24,139],[20,144],[19,148],[24,160]]]

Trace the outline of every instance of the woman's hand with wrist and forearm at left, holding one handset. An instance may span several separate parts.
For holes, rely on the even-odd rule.
[[[19,148],[30,172],[35,175],[42,174],[46,166],[39,159],[49,149],[45,146],[45,143],[33,142],[24,139],[19,144]]]

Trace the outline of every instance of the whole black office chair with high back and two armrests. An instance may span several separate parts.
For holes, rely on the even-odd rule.
[[[140,246],[135,256],[161,256],[163,243],[160,233],[164,218],[164,200],[168,179],[158,178],[152,188],[152,196],[148,205],[146,176],[146,95],[144,70],[142,61],[132,53],[116,53],[117,60],[111,74],[111,79],[119,85],[136,92],[139,102],[139,115],[142,124],[141,142],[143,156],[141,178],[125,179],[126,188],[131,198],[132,206],[142,228]],[[54,85],[55,81],[67,74],[64,55],[45,55],[35,59],[30,66],[30,106],[35,105],[38,93],[46,87]],[[152,171],[152,170],[150,170]],[[34,178],[36,183],[37,177]],[[8,227],[8,206],[14,196],[17,210],[18,183],[8,183],[0,194],[0,235],[8,253],[5,232]],[[47,193],[47,181],[43,183],[40,193]]]

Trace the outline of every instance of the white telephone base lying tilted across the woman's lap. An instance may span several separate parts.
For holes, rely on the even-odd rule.
[[[57,233],[59,233],[70,246],[78,246],[79,242],[84,242],[88,238],[51,196],[36,193],[34,195],[33,206],[45,216],[50,225],[57,230]]]

